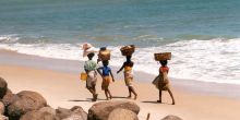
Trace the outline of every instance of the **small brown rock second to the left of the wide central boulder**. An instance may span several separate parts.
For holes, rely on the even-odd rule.
[[[58,119],[62,120],[71,116],[71,110],[59,107],[56,109],[56,116]]]

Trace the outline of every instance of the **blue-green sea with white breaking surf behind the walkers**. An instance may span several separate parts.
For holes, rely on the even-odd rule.
[[[171,51],[171,77],[240,84],[239,0],[0,0],[0,49],[84,61],[83,43],[137,46],[134,70],[157,74],[154,52]],[[149,80],[151,81],[151,80]]]

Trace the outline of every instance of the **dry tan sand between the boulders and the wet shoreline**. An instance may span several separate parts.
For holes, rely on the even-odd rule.
[[[20,58],[3,60],[8,57]],[[61,69],[44,69],[37,65],[24,65],[21,59],[31,60],[38,59],[34,56],[19,55],[11,51],[1,51],[0,53],[0,76],[4,77],[9,87],[17,93],[28,89],[40,93],[53,108],[72,106],[81,106],[86,111],[94,104],[91,101],[91,94],[85,88],[85,82],[80,81],[77,72],[65,72]],[[21,58],[22,57],[22,58]],[[32,59],[29,59],[32,58]],[[45,58],[41,58],[45,59]],[[36,61],[36,60],[35,60]],[[59,60],[60,61],[60,60]],[[69,62],[69,61],[64,61]],[[45,61],[46,63],[46,61]],[[31,62],[28,62],[31,64]],[[34,64],[34,63],[33,63]],[[35,63],[37,64],[37,62]],[[49,65],[49,64],[48,64]],[[71,65],[71,64],[70,64]],[[136,73],[137,74],[137,73]],[[122,75],[122,74],[121,74]],[[142,77],[147,79],[148,76]],[[101,80],[98,77],[97,92],[99,94],[98,101],[105,100],[104,92],[100,89]],[[182,82],[183,83],[183,82]],[[170,105],[171,100],[167,93],[164,93],[164,104],[157,104],[158,91],[151,83],[134,82],[134,86],[139,93],[135,101],[141,107],[139,118],[145,120],[147,113],[151,113],[151,120],[159,120],[167,115],[176,115],[183,120],[239,120],[239,97],[224,97],[224,95],[214,95],[203,92],[182,88],[184,85],[172,81],[172,92],[176,97],[175,106]],[[203,89],[206,87],[202,87]],[[228,86],[230,89],[231,87]],[[115,98],[112,100],[132,100],[125,99],[128,96],[127,87],[121,77],[117,77],[115,83],[110,84],[110,91]]]

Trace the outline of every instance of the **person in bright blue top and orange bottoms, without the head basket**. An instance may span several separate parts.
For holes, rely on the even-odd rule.
[[[98,73],[103,77],[101,89],[105,91],[107,100],[112,98],[112,95],[108,88],[109,83],[110,83],[110,75],[111,75],[112,82],[115,82],[113,74],[111,72],[111,69],[108,67],[108,63],[109,63],[108,60],[104,60],[103,61],[104,67],[100,67],[97,69]]]

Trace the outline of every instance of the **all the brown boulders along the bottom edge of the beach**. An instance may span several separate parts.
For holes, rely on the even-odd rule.
[[[101,101],[93,105],[88,113],[80,106],[71,109],[51,108],[36,92],[13,94],[0,77],[0,120],[139,120],[140,107],[132,101]],[[181,120],[169,116],[163,120]]]

